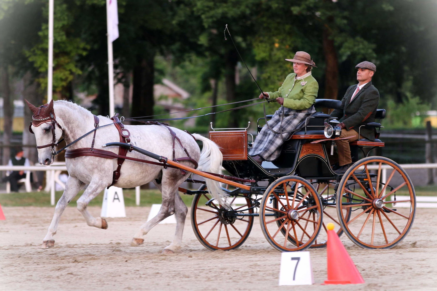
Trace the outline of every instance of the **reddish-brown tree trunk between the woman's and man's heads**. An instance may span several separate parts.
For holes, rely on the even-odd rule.
[[[323,28],[323,54],[325,56],[325,99],[337,99],[338,95],[338,59],[331,32],[325,25]]]

